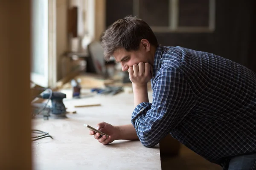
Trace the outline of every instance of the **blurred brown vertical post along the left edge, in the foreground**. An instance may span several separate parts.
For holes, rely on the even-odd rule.
[[[31,170],[30,0],[0,1],[0,169]]]

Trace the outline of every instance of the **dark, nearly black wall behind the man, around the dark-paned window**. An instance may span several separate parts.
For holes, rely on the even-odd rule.
[[[164,2],[164,0],[161,0]],[[183,2],[186,0],[183,0]],[[255,0],[216,0],[213,33],[155,33],[160,44],[207,51],[232,59],[256,71]],[[155,8],[160,7],[156,1]],[[163,6],[162,6],[163,8]],[[163,9],[164,10],[164,9]],[[133,0],[107,0],[106,26],[133,14]],[[155,16],[164,20],[166,16]],[[154,17],[152,17],[154,19]]]

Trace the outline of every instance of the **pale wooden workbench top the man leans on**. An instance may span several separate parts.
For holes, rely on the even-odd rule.
[[[75,108],[76,114],[68,119],[33,119],[33,128],[49,132],[54,138],[32,142],[33,167],[35,170],[160,170],[159,144],[144,147],[140,141],[119,140],[108,145],[97,142],[88,135],[84,123],[96,127],[102,121],[112,125],[131,123],[134,109],[133,94],[116,96],[88,96],[70,99],[64,104],[68,109],[74,105],[100,103],[100,106]],[[87,96],[87,95],[85,95]],[[151,98],[151,94],[149,94]]]

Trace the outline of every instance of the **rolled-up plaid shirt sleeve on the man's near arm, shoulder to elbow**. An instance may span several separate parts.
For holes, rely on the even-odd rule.
[[[137,105],[131,123],[146,147],[153,147],[184,119],[195,97],[178,68],[160,68],[154,80],[152,103]]]

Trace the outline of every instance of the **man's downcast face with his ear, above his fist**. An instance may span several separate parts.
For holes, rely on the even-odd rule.
[[[149,53],[147,47],[140,45],[137,51],[126,51],[124,48],[119,48],[113,53],[116,62],[120,62],[122,71],[127,71],[130,67],[139,62],[149,62]]]

